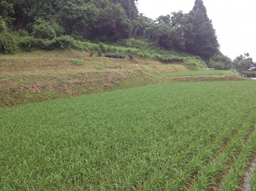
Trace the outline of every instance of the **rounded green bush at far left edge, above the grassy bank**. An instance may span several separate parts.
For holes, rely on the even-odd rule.
[[[0,33],[0,53],[13,54],[18,51],[15,37],[10,33]]]

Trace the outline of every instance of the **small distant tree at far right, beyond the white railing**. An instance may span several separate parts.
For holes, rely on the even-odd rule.
[[[239,55],[233,60],[233,66],[238,72],[247,71],[253,64],[252,58],[249,53]]]

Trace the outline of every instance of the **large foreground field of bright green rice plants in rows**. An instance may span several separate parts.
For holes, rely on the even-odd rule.
[[[255,95],[251,80],[172,82],[2,108],[0,190],[241,190]]]

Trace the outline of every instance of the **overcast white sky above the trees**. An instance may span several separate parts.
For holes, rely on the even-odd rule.
[[[192,10],[195,0],[138,0],[139,13],[156,19],[182,10]],[[256,0],[203,0],[221,45],[231,59],[249,53],[256,61]]]

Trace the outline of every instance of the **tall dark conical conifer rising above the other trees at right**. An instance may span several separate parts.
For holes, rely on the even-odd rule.
[[[192,17],[192,31],[188,34],[185,43],[186,51],[210,59],[219,51],[219,43],[212,26],[212,21],[207,17],[203,0],[195,0],[193,10],[189,13]]]

